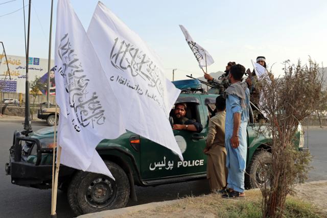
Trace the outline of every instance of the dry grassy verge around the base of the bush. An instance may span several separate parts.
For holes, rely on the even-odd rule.
[[[188,197],[177,204],[157,207],[152,210],[129,214],[131,217],[230,217],[260,218],[261,192],[248,190],[244,199],[223,199],[218,194]],[[295,197],[288,197],[284,210],[285,217],[326,217],[327,214],[315,206]]]

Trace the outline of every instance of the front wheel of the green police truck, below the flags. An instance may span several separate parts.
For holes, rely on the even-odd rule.
[[[69,184],[68,202],[76,215],[125,207],[130,185],[125,171],[117,164],[105,160],[111,178],[96,173],[79,172]]]

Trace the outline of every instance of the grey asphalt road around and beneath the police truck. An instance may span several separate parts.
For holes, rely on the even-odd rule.
[[[33,124],[33,130],[46,127],[45,122]],[[8,150],[12,143],[12,134],[22,125],[0,121],[0,217],[50,217],[51,190],[21,187],[11,184],[10,176],[4,172],[5,163],[8,161]],[[307,131],[307,129],[305,128]],[[309,181],[327,180],[327,145],[325,142],[326,129],[310,128],[309,138],[306,132],[306,143],[309,139],[309,148],[314,156],[309,172]],[[150,203],[155,201],[168,201],[185,196],[199,196],[209,193],[206,180],[184,182],[177,184],[161,185],[156,187],[137,187],[138,202],[130,201],[128,206]],[[66,196],[58,191],[57,217],[73,217],[74,213],[69,208]]]

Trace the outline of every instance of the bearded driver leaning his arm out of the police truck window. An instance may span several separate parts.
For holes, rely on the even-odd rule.
[[[173,130],[188,130],[192,132],[201,132],[203,127],[201,124],[192,119],[185,117],[187,106],[185,103],[175,104],[174,109],[174,125]]]

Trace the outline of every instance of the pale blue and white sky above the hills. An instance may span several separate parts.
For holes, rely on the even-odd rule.
[[[8,2],[8,3],[6,3]],[[71,0],[85,30],[98,1]],[[281,75],[283,61],[305,64],[309,56],[327,65],[327,1],[102,1],[127,26],[145,40],[161,58],[166,77],[203,76],[178,25],[214,58],[208,72],[224,71],[235,61],[251,68],[251,59],[265,56],[274,75]],[[25,0],[25,5],[28,0]],[[0,41],[7,55],[25,55],[22,0],[0,0]],[[14,12],[18,10],[17,12]],[[57,0],[54,0],[52,49]],[[32,0],[30,57],[48,58],[50,0]],[[8,13],[12,14],[6,15]],[[26,23],[28,7],[25,8]],[[0,49],[2,53],[2,49]],[[52,51],[52,58],[54,57]]]

